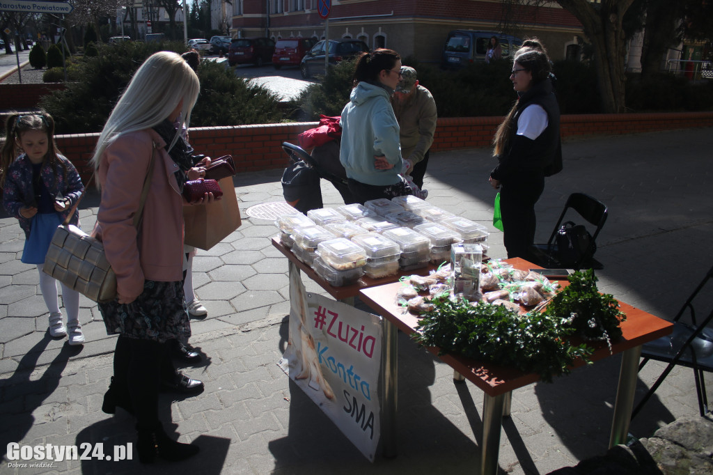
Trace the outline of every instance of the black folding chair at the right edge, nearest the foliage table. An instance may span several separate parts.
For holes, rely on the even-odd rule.
[[[668,366],[661,373],[644,398],[639,402],[633,410],[631,418],[634,419],[636,414],[642,409],[644,404],[653,396],[656,389],[666,379],[674,366],[681,366],[693,369],[693,377],[696,382],[696,392],[698,396],[698,409],[701,416],[708,413],[708,398],[706,396],[706,385],[703,377],[703,372],[713,372],[713,330],[707,328],[711,320],[713,320],[713,309],[701,322],[696,322],[696,311],[693,306],[694,300],[706,283],[713,279],[713,267],[710,268],[701,283],[693,291],[676,317],[674,317],[673,332],[666,337],[661,337],[653,342],[644,344],[642,347],[641,356],[642,362],[639,365],[639,371],[650,360],[668,362]],[[710,294],[708,294],[710,295]],[[706,302],[704,302],[706,303]],[[680,318],[689,309],[692,325],[679,322]]]

